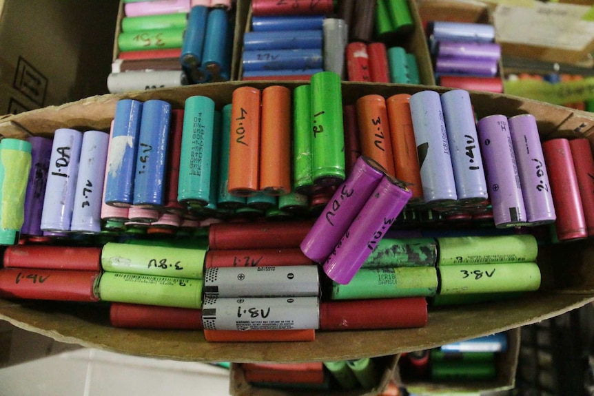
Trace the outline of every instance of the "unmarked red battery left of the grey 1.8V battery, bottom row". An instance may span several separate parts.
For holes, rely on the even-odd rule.
[[[200,309],[112,302],[110,322],[134,329],[202,330]]]

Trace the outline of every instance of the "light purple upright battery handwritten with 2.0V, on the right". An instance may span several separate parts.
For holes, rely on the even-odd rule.
[[[553,194],[536,118],[532,114],[521,114],[509,118],[508,123],[515,163],[520,174],[526,220],[530,225],[555,222]]]

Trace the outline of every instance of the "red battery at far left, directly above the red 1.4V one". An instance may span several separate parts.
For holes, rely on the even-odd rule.
[[[15,245],[4,251],[4,267],[101,271],[100,247]]]

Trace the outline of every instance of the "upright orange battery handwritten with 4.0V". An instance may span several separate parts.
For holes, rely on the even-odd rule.
[[[229,145],[229,194],[252,196],[258,191],[260,157],[260,90],[239,87],[233,92]]]

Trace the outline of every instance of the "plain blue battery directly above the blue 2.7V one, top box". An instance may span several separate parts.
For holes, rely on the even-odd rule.
[[[322,48],[321,30],[279,30],[276,32],[245,32],[243,50],[290,50]]]

